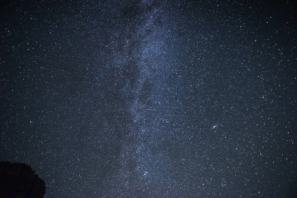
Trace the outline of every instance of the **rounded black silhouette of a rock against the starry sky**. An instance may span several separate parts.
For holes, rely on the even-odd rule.
[[[0,162],[1,198],[43,198],[46,183],[23,163]]]

